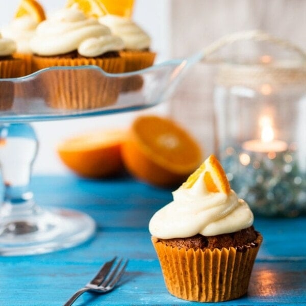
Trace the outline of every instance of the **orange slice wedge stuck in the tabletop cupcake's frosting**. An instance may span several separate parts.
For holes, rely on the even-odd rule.
[[[183,187],[191,188],[201,173],[203,173],[203,183],[206,185],[209,192],[230,193],[231,186],[227,180],[226,173],[214,155],[210,155],[205,162],[188,177]]]

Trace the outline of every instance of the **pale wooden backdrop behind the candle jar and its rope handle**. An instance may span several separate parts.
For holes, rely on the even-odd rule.
[[[171,56],[187,57],[218,38],[261,29],[306,50],[305,0],[173,0]],[[171,116],[213,152],[214,68],[197,64],[171,99]],[[306,120],[306,118],[305,118]]]

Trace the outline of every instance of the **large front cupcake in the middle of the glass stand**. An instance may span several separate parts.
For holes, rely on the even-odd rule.
[[[124,71],[124,60],[118,53],[123,41],[75,6],[64,8],[41,22],[31,40],[31,48],[37,70],[95,65],[109,73]],[[41,73],[48,83],[44,98],[50,107],[100,108],[115,103],[119,94],[118,79],[105,77],[94,69],[57,69]]]

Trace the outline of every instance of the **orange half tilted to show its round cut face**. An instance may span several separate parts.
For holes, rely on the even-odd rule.
[[[133,122],[122,144],[122,159],[138,179],[166,187],[186,180],[199,165],[201,150],[172,120],[144,115]]]

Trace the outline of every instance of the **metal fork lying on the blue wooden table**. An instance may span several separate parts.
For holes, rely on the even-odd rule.
[[[64,304],[64,306],[70,306],[72,303],[84,292],[92,291],[97,293],[107,293],[110,292],[116,284],[118,283],[120,277],[124,273],[124,269],[127,265],[127,260],[123,262],[122,259],[113,267],[114,262],[116,261],[114,257],[111,261],[106,262],[99,270],[97,275],[87,284],[84,288],[81,288],[75,292],[70,299]],[[123,265],[122,265],[123,262]],[[112,269],[113,267],[113,269]]]

